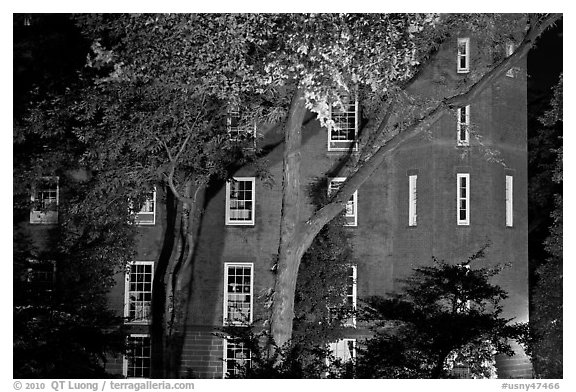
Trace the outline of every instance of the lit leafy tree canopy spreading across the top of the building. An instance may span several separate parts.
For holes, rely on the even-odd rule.
[[[92,43],[87,67],[74,83],[65,84],[68,89],[38,92],[25,127],[15,132],[15,150],[22,146],[22,152],[37,152],[25,170],[18,168],[19,176],[33,179],[89,168],[91,180],[83,198],[69,209],[59,252],[72,255],[66,249],[112,246],[108,239],[116,229],[118,244],[129,245],[128,228],[105,225],[98,235],[97,224],[73,215],[101,211],[109,216],[104,209],[112,205],[125,223],[128,197],[138,198],[153,184],[169,187],[184,206],[194,202],[192,189],[202,189],[214,177],[228,178],[258,153],[228,137],[230,108],[240,107],[244,124],[286,122],[289,103],[302,88],[306,107],[326,124],[330,106],[340,105],[344,95],[359,88],[367,107],[376,110],[384,107],[382,102],[402,101],[398,92],[447,32],[469,28],[487,32],[487,42],[501,43],[506,32],[519,31],[517,24],[503,19],[506,16],[427,14],[77,15],[77,25]],[[504,33],[493,36],[494,26],[502,26]],[[470,81],[480,74],[471,74]],[[407,124],[404,120],[394,132]],[[28,150],[28,143],[35,150]],[[180,211],[183,222],[194,215]],[[187,246],[180,249],[187,248],[191,255],[194,236],[187,225],[181,227]],[[122,250],[111,250],[120,251],[114,259],[126,259]],[[104,254],[82,256],[96,260]]]

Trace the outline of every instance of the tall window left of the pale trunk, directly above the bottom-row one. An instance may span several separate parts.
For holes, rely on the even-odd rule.
[[[252,322],[252,263],[224,264],[224,324]]]

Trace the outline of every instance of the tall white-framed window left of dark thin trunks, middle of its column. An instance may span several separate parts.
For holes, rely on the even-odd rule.
[[[149,323],[152,306],[153,261],[135,261],[126,274],[124,317],[130,323]]]

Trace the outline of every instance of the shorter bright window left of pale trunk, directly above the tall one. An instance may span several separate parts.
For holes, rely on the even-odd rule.
[[[234,177],[226,183],[226,224],[254,224],[254,177]]]

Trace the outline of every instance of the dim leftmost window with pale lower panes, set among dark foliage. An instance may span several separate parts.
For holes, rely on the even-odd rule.
[[[58,177],[44,177],[36,183],[30,196],[30,223],[58,223],[58,193]]]

